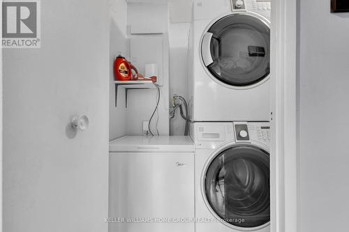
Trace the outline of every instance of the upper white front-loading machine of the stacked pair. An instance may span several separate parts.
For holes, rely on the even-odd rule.
[[[191,121],[269,121],[269,0],[195,0]]]

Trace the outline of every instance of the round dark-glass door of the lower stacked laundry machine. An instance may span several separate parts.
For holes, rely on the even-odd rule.
[[[210,210],[229,226],[255,228],[270,221],[269,153],[232,146],[207,167],[205,196]]]

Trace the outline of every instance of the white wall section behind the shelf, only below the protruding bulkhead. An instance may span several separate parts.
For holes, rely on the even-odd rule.
[[[144,74],[147,63],[158,65],[158,82],[160,87],[160,102],[158,113],[151,120],[151,132],[168,135],[168,37],[165,34],[131,36],[131,57],[138,71]],[[162,79],[162,80],[160,80]],[[157,89],[129,90],[127,107],[127,134],[142,134],[142,122],[149,121],[154,112],[158,98]],[[157,122],[157,123],[156,123]],[[157,125],[157,126],[156,126]]]

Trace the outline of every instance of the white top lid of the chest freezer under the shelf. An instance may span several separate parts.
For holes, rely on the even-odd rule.
[[[187,136],[125,136],[109,143],[110,153],[193,153],[195,146]]]

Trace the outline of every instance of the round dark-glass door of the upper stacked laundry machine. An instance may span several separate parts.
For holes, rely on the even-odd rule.
[[[202,38],[202,60],[213,78],[250,86],[270,72],[270,28],[253,13],[233,13],[215,22]]]

